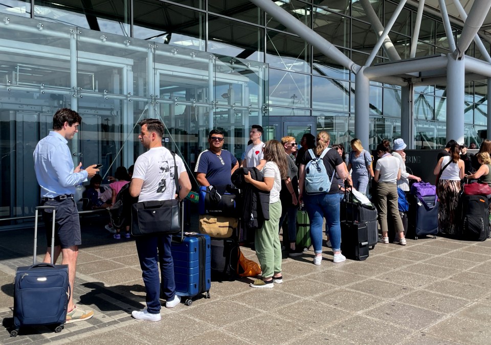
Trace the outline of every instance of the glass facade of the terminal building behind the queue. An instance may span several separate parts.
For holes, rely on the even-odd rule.
[[[360,65],[377,41],[357,0],[275,4]],[[385,25],[398,2],[370,4]],[[416,11],[406,6],[389,33],[403,59]],[[227,132],[225,146],[236,157],[251,124],[271,127],[266,139],[279,135],[270,118],[314,119],[298,128],[289,122],[280,135],[301,136],[313,126],[348,148],[353,138],[354,74],[249,1],[0,0],[0,12],[0,220],[33,215],[32,151],[60,107],[83,118],[74,159],[103,164],[103,175],[143,152],[136,123],[145,117],[164,121],[166,145],[183,156],[190,176],[215,127]],[[453,28],[455,37],[460,30]],[[441,20],[424,14],[416,56],[448,48]],[[474,43],[466,54],[482,58]],[[373,63],[387,61],[381,49]],[[486,81],[468,82],[465,93],[466,141],[479,144]],[[400,97],[398,86],[370,83],[370,148],[400,135]],[[445,141],[446,98],[445,85],[414,88],[416,148]]]

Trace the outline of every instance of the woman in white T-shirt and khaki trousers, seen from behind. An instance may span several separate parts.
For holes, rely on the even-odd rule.
[[[375,176],[377,182],[377,208],[378,221],[382,230],[382,243],[389,243],[387,218],[390,216],[394,224],[395,232],[399,236],[399,244],[406,245],[404,237],[404,224],[399,215],[397,194],[397,180],[400,179],[399,159],[390,154],[390,143],[384,140],[377,146],[378,160],[375,165]]]

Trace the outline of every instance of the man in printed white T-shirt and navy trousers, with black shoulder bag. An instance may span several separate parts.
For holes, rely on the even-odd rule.
[[[135,162],[129,193],[132,197],[138,197],[138,202],[184,199],[191,190],[191,182],[181,157],[175,156],[174,160],[171,152],[162,146],[164,124],[157,119],[145,119],[138,124],[142,127],[138,139],[149,150],[139,156]],[[174,181],[175,165],[179,175],[180,190],[178,191]],[[175,294],[171,241],[172,235],[141,236],[135,240],[147,293],[147,308],[131,313],[136,319],[148,321],[161,319],[159,265],[166,308],[175,307],[181,302],[181,297]]]

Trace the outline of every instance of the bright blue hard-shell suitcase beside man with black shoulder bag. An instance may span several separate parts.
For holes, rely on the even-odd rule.
[[[186,233],[183,237],[174,236],[171,245],[174,261],[175,293],[188,297],[187,306],[192,298],[205,293],[210,298],[211,287],[211,245],[206,234]]]

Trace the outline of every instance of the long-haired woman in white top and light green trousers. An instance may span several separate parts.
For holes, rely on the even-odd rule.
[[[264,181],[252,179],[251,173],[245,175],[245,181],[254,187],[270,192],[270,219],[256,231],[256,255],[262,269],[262,279],[256,279],[251,287],[272,288],[274,283],[283,283],[281,275],[281,245],[278,235],[281,216],[281,180],[288,177],[285,149],[277,140],[264,143],[262,149],[266,164],[262,169]]]

